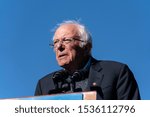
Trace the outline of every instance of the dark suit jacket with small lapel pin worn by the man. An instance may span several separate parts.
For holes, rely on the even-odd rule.
[[[48,74],[38,81],[35,95],[47,95],[55,88],[53,74]],[[85,91],[91,90],[97,91],[97,99],[140,99],[138,85],[131,70],[127,65],[114,61],[97,61],[92,58]]]

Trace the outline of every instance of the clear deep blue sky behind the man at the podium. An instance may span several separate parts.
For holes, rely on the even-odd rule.
[[[60,69],[51,30],[80,20],[93,56],[128,64],[142,99],[150,99],[149,0],[0,0],[0,98],[33,96],[37,81]]]

